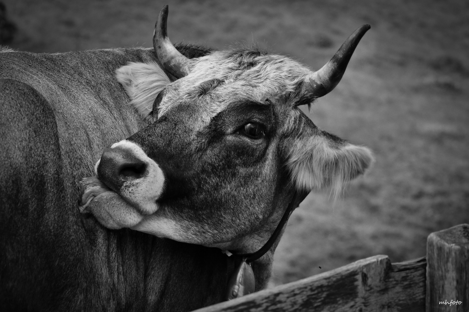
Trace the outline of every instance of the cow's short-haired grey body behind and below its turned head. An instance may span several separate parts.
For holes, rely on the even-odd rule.
[[[114,79],[147,49],[0,53],[0,306],[5,311],[188,311],[222,300],[217,249],[77,209],[77,181],[144,122]]]

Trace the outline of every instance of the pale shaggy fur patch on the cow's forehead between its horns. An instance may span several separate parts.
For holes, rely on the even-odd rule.
[[[194,59],[189,75],[168,87],[159,116],[185,101],[199,104],[205,122],[234,101],[263,103],[268,99],[277,109],[291,109],[295,88],[309,73],[306,66],[285,56],[258,50],[215,51]],[[207,82],[216,86],[202,99],[200,86]]]

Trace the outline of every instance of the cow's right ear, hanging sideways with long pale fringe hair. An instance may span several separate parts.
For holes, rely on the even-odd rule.
[[[290,145],[287,167],[297,189],[310,191],[330,187],[337,197],[348,181],[370,167],[373,162],[370,149],[333,138],[336,137],[314,135],[296,139]]]

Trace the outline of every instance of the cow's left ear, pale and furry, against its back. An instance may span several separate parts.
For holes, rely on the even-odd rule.
[[[145,120],[151,121],[153,102],[171,80],[155,62],[129,63],[116,70],[116,79],[130,97],[130,105]]]

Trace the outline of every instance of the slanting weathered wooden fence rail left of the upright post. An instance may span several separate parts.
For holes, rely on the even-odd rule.
[[[425,258],[391,264],[385,255],[196,310],[425,311]]]

